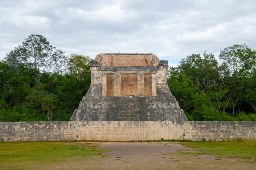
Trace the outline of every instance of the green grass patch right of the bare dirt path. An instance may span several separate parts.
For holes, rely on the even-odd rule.
[[[247,162],[256,162],[256,141],[245,142],[181,142],[186,147],[195,148],[196,153],[216,157],[241,158]]]

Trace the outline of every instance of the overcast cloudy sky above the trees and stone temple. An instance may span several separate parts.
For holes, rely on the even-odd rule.
[[[234,44],[256,49],[256,0],[0,0],[0,59],[30,34],[66,55],[153,53],[170,66]]]

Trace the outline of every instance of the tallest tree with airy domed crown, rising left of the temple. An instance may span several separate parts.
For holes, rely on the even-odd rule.
[[[13,67],[29,65],[35,69],[35,87],[41,72],[54,73],[64,65],[64,52],[50,45],[47,38],[39,34],[31,34],[22,45],[18,45],[9,54],[6,61]]]

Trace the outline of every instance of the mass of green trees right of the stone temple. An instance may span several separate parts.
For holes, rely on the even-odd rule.
[[[190,121],[255,121],[256,51],[232,45],[220,59],[192,54],[169,68],[172,94]]]

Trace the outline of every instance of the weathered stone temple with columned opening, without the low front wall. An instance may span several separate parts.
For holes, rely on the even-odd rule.
[[[98,54],[91,85],[71,121],[186,121],[154,54]]]

